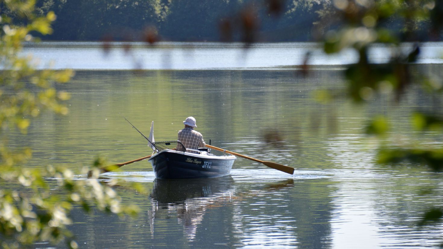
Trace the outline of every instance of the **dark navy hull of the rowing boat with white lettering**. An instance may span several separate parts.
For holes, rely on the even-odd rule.
[[[163,150],[152,156],[155,177],[159,179],[210,178],[229,175],[234,156],[210,156]]]

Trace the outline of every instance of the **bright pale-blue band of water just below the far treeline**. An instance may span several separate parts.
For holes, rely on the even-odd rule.
[[[402,50],[411,51],[412,46],[404,44]],[[377,63],[388,62],[393,53],[389,47],[375,45],[369,50],[369,58]],[[42,42],[28,44],[24,54],[30,54],[39,68],[78,70],[282,69],[305,62],[329,65],[331,69],[357,61],[352,50],[331,56],[312,42],[257,43],[249,49],[239,43],[220,42],[160,42],[155,46],[142,42]],[[417,63],[443,63],[443,42],[420,44]]]

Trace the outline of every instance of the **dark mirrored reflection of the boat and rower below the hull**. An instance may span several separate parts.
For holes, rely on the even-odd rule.
[[[151,233],[156,218],[176,216],[189,240],[195,238],[198,224],[208,208],[220,207],[233,198],[234,180],[230,175],[200,179],[155,179],[150,195]]]

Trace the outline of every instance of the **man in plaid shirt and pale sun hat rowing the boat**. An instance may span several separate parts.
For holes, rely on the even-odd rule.
[[[183,130],[179,130],[179,138],[178,140],[183,143],[183,146],[186,148],[183,148],[181,144],[177,144],[177,150],[178,151],[185,151],[185,149],[195,149],[198,150],[199,147],[205,147],[206,143],[203,140],[203,135],[194,130],[194,127],[197,127],[195,125],[195,119],[194,117],[188,117],[185,121],[183,121],[183,124],[185,125],[185,128]],[[195,151],[188,151],[190,153],[198,153]]]

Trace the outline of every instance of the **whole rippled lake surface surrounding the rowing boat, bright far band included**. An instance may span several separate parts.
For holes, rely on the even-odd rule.
[[[97,155],[122,163],[150,154],[143,137],[155,123],[155,140],[176,139],[187,116],[197,119],[206,142],[295,168],[294,175],[239,158],[231,176],[206,180],[156,180],[148,161],[104,174],[103,180],[142,183],[148,194],[117,187],[124,203],[136,203],[134,219],[73,213],[81,248],[435,248],[443,225],[418,227],[424,211],[441,206],[442,175],[416,165],[380,166],[377,146],[364,125],[377,114],[392,119],[392,141],[420,138],[441,146],[440,134],[408,126],[417,108],[440,108],[420,89],[400,103],[381,96],[355,105],[314,101],[319,89],[344,92],[342,64],[351,52],[324,55],[311,43],[163,43],[124,45],[104,54],[98,43],[28,46],[43,67],[78,69],[68,84],[66,116],[46,114],[13,145],[30,146],[31,166],[91,165]],[[442,77],[441,43],[424,45],[414,72]],[[407,48],[405,48],[407,49]],[[301,65],[311,51],[313,65]],[[387,59],[376,47],[372,57]],[[150,69],[150,70],[129,70]],[[160,70],[162,69],[162,70]],[[77,180],[86,180],[78,175]],[[48,181],[51,182],[50,179]],[[428,187],[432,194],[421,195]],[[54,189],[54,194],[57,189]],[[35,248],[64,248],[39,243]]]

